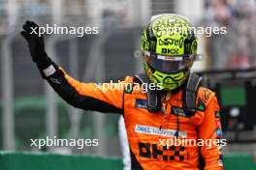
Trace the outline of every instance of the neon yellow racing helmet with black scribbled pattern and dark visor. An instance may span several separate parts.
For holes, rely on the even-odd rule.
[[[175,90],[188,78],[197,55],[192,25],[177,14],[152,16],[144,29],[141,49],[144,71],[163,90]]]

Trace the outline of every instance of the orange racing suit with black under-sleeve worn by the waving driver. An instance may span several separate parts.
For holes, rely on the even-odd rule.
[[[182,88],[171,95],[163,93],[162,109],[150,113],[146,109],[147,96],[141,88],[122,86],[133,84],[134,77],[99,85],[81,83],[54,63],[41,72],[54,91],[69,104],[83,110],[123,114],[132,169],[198,170],[200,157],[205,160],[206,170],[223,169],[221,147],[213,144],[214,139],[221,136],[219,106],[214,93],[207,88],[199,88],[199,107],[193,116],[187,117],[181,109]],[[175,139],[210,139],[211,147],[184,145],[186,143],[171,145]]]

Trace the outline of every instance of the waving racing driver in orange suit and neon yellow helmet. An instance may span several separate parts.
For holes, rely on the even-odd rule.
[[[180,15],[152,17],[141,42],[145,73],[100,85],[81,83],[55,64],[45,51],[43,37],[32,32],[38,29],[36,23],[26,21],[21,35],[42,77],[62,99],[80,109],[123,115],[132,169],[221,170],[221,148],[213,142],[222,134],[219,106],[215,94],[190,72],[199,57],[190,27]],[[176,28],[182,34],[174,32]],[[210,139],[211,147],[163,144],[167,139]]]

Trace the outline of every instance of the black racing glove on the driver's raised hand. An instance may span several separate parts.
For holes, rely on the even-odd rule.
[[[23,25],[21,36],[28,42],[29,51],[40,71],[45,70],[52,63],[45,50],[45,42],[43,36],[39,37],[39,26],[27,20]]]

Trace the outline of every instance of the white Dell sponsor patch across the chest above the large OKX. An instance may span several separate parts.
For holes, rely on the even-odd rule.
[[[136,125],[135,132],[149,134],[149,135],[160,135],[165,137],[172,137],[176,135],[176,129],[156,128],[156,127],[148,127],[143,125]],[[178,136],[185,138],[186,131],[178,131]]]

